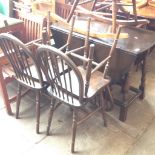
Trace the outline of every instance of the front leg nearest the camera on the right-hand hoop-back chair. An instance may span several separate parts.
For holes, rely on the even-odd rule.
[[[77,110],[74,108],[73,109],[73,124],[72,124],[72,143],[71,143],[71,152],[72,153],[74,153],[76,129],[77,129]]]

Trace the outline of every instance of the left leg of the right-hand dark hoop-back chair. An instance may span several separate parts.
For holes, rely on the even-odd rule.
[[[49,135],[49,131],[50,131],[51,123],[52,123],[52,118],[53,118],[53,113],[54,113],[54,108],[55,108],[55,102],[56,102],[56,100],[53,99],[53,103],[51,103],[51,106],[50,106],[46,135]]]

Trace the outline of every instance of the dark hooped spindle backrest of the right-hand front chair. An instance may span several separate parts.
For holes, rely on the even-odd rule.
[[[65,53],[52,46],[42,45],[37,51],[37,60],[54,97],[70,104],[83,103],[82,75]]]

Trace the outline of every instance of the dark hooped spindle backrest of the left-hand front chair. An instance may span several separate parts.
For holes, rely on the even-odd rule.
[[[15,78],[31,88],[42,86],[42,76],[31,51],[15,36],[0,34],[0,48],[11,64]]]

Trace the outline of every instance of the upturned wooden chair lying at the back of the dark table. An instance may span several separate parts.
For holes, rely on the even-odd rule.
[[[137,18],[135,0],[133,0],[133,13],[134,13],[133,18],[126,18],[126,16],[129,17],[129,15],[127,15],[129,13],[125,12],[125,10],[123,10],[123,7],[121,7],[121,6],[123,6],[124,4],[121,3],[120,0],[99,1],[99,3],[101,3],[103,6],[96,9],[95,5],[97,4],[97,2],[98,2],[98,0],[95,0],[95,1],[85,0],[84,2],[80,2],[80,0],[75,0],[72,5],[71,11],[68,15],[67,22],[70,21],[73,14],[76,12],[79,15],[80,14],[87,15],[87,16],[90,16],[98,21],[111,24],[112,25],[112,30],[111,30],[112,33],[116,33],[119,25],[146,26],[149,23],[149,21],[146,19],[138,19]],[[90,9],[88,9],[87,7],[85,8],[85,5],[87,3],[92,4],[92,7]],[[105,10],[110,10],[110,12],[105,12]],[[126,15],[124,15],[125,18],[122,19],[122,15],[119,16],[119,14],[118,14],[118,12],[120,12],[119,10],[121,10],[121,12],[123,11],[123,13],[127,13]],[[117,18],[118,16],[120,18]]]

